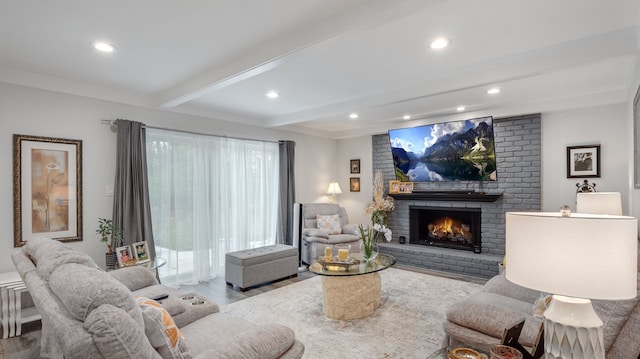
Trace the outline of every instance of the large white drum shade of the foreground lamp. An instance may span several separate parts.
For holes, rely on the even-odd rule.
[[[509,212],[506,277],[552,294],[635,298],[637,222],[624,216]]]

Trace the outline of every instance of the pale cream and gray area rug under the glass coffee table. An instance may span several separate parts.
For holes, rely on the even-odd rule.
[[[322,312],[321,277],[224,306],[254,323],[280,323],[305,346],[303,358],[426,358],[441,348],[449,305],[479,284],[389,268],[381,271],[382,305],[364,319],[340,321]]]

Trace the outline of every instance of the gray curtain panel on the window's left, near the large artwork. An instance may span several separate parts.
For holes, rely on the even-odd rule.
[[[118,142],[113,223],[122,229],[124,245],[147,241],[150,257],[155,258],[144,124],[119,119],[116,120],[116,126]]]

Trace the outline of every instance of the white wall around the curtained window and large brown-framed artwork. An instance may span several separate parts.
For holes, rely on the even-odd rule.
[[[0,272],[14,270],[10,254],[17,250],[13,247],[13,134],[83,141],[83,241],[69,245],[104,266],[106,246],[95,230],[98,217],[111,218],[113,197],[106,196],[105,187],[113,184],[116,136],[100,119],[116,118],[215,135],[296,141],[296,195],[300,202],[326,201],[327,184],[337,175],[335,140],[0,83],[0,168],[4,169],[0,175]]]

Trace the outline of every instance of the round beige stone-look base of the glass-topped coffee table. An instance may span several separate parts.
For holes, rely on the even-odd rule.
[[[332,319],[365,318],[380,306],[378,272],[354,276],[322,277],[322,309]]]

